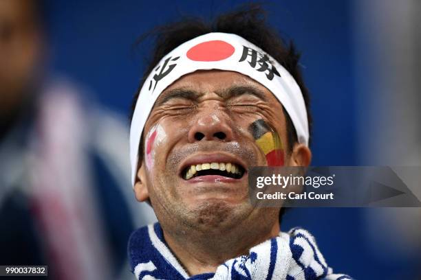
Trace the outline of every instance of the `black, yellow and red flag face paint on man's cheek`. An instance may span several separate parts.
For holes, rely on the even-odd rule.
[[[257,146],[266,155],[268,166],[283,165],[283,148],[278,132],[263,119],[254,121],[248,126],[248,131],[255,138]]]

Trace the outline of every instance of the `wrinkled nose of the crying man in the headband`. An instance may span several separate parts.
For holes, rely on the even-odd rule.
[[[188,141],[232,141],[233,130],[230,118],[222,110],[203,110],[195,117],[193,126],[188,131]]]

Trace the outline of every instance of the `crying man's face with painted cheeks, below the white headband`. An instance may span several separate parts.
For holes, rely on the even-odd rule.
[[[144,128],[135,191],[139,200],[150,199],[164,229],[220,232],[259,224],[267,230],[277,223],[279,208],[253,208],[248,200],[248,170],[268,165],[267,147],[252,131],[256,121],[279,137],[274,148],[287,147],[281,104],[237,72],[196,71],[158,97]],[[294,165],[290,153],[277,154],[276,163]]]

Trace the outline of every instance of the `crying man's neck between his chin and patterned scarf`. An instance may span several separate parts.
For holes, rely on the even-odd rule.
[[[191,234],[171,235],[164,231],[169,248],[177,256],[189,275],[215,272],[217,267],[228,259],[248,255],[248,250],[272,237],[279,235],[279,222],[266,232],[251,232],[241,229],[209,235]]]

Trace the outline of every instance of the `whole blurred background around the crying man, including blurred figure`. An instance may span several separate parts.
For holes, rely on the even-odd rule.
[[[151,51],[133,44],[241,3],[0,0],[0,264],[133,279],[127,239],[155,219],[129,181],[129,106]],[[302,51],[312,165],[421,165],[420,1],[264,6]],[[421,279],[421,209],[290,209],[281,227],[292,226],[315,235],[336,272]]]

